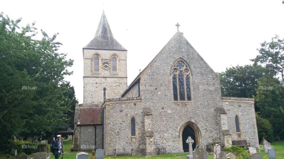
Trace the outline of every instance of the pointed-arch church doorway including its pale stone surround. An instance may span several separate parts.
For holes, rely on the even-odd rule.
[[[192,144],[192,150],[195,149],[196,145],[200,144],[201,132],[196,124],[191,121],[185,122],[181,125],[179,130],[180,136],[180,152],[188,152],[188,144],[186,140],[190,136],[194,143]]]

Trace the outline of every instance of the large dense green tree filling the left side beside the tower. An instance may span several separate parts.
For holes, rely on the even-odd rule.
[[[43,38],[34,40],[35,24],[20,28],[20,21],[0,14],[0,145],[11,135],[45,136],[70,127],[77,103],[64,81],[73,60],[58,53],[57,34],[41,30]]]

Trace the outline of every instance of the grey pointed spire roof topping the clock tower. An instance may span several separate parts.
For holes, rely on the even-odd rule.
[[[84,48],[86,49],[110,49],[110,50],[126,50],[122,45],[117,42],[109,27],[109,23],[106,19],[106,15],[101,15],[101,20],[99,22],[95,37],[88,45]]]

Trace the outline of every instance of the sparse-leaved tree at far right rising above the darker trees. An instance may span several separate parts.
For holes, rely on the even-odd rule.
[[[277,72],[284,84],[284,39],[276,35],[271,42],[264,41],[261,48],[257,49],[260,55],[251,59],[254,64],[265,64],[265,67]]]

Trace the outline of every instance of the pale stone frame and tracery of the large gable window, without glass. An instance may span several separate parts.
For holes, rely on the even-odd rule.
[[[182,70],[177,70],[177,73],[174,73],[174,69],[176,68],[175,67],[175,64],[178,62],[178,61],[183,61],[185,63],[185,68],[187,68],[187,71],[189,72],[188,74],[185,74],[183,73],[183,79],[184,79],[184,90],[185,90],[185,100],[180,100],[180,91],[179,91],[179,85],[178,85],[178,74],[180,71],[183,71],[185,70],[182,69]],[[191,100],[187,100],[187,91],[186,91],[186,76],[189,76],[189,80],[190,80],[190,94],[191,94]],[[177,93],[178,93],[178,100],[174,100],[174,94],[173,94],[173,76],[176,76],[177,78]],[[191,74],[191,69],[188,65],[188,63],[186,62],[186,60],[184,60],[183,58],[179,57],[178,59],[175,60],[175,62],[172,64],[172,68],[171,68],[171,88],[172,88],[172,100],[174,103],[188,103],[188,102],[192,102],[193,101],[193,91],[192,91],[192,74]]]

